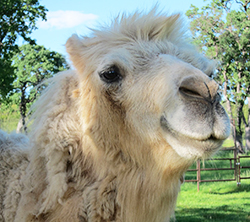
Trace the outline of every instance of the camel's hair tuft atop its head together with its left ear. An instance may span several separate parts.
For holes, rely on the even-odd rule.
[[[136,11],[133,14],[123,13],[109,25],[91,29],[90,37],[72,35],[66,49],[78,73],[86,67],[86,60],[107,52],[116,45],[130,42],[169,41],[174,45],[188,47],[184,19],[181,14],[167,15],[158,10],[156,5],[149,12]],[[95,55],[94,55],[95,54]]]

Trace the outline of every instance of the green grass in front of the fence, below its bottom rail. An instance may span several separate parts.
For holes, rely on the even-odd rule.
[[[250,180],[200,184],[185,183],[178,197],[177,222],[250,222]]]

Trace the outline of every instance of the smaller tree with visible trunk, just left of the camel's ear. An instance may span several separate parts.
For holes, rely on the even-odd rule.
[[[44,88],[44,85],[39,84],[68,66],[61,54],[44,46],[26,44],[21,46],[20,52],[13,57],[13,67],[16,79],[10,98],[13,103],[19,104],[21,125],[26,132],[27,111]]]

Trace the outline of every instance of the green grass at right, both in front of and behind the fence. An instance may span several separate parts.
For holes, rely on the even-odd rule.
[[[230,157],[233,157],[233,152],[225,151],[214,158]],[[242,159],[241,165],[250,166],[250,158]],[[229,160],[209,160],[201,164],[201,168],[229,166]],[[241,172],[243,176],[250,176],[250,169]],[[201,179],[233,177],[234,171],[231,170],[201,172]],[[186,179],[196,179],[196,172],[187,172]],[[241,186],[237,186],[236,181],[200,183],[199,192],[196,183],[185,183],[181,187],[175,215],[176,222],[250,222],[250,179],[242,180]]]

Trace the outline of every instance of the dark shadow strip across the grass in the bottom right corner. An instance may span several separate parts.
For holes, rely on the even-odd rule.
[[[217,208],[188,208],[176,210],[176,222],[250,222],[249,206],[235,209],[224,205]]]

